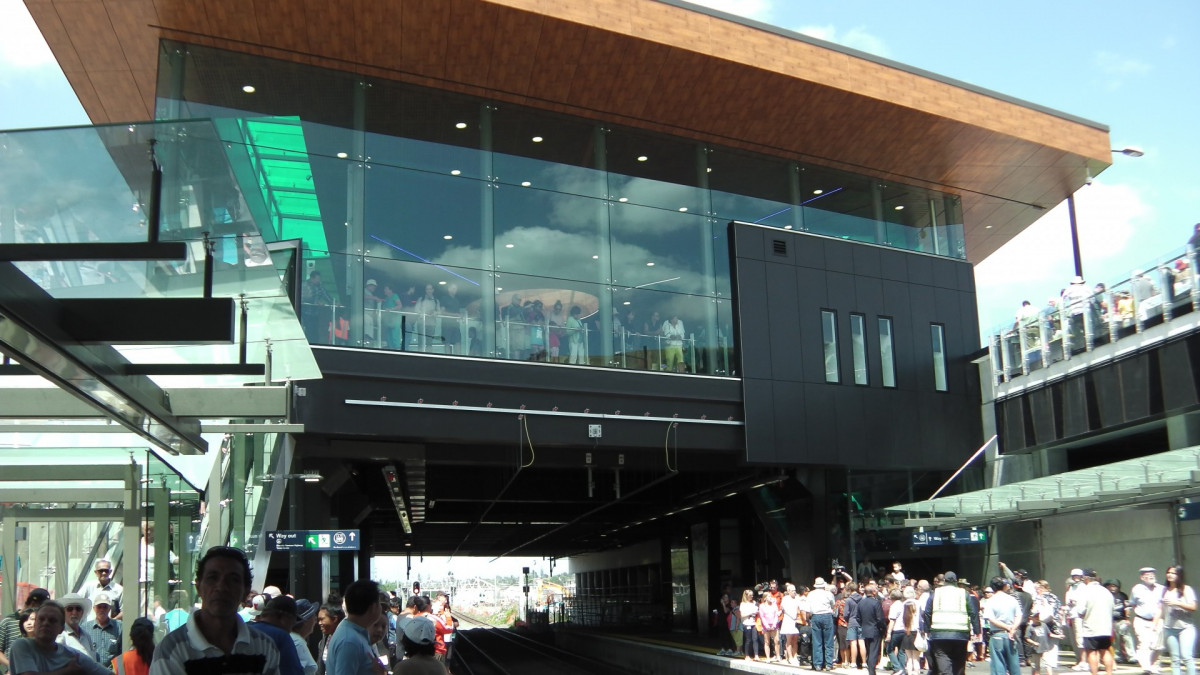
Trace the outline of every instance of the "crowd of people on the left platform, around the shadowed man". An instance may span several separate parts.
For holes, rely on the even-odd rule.
[[[445,593],[407,597],[371,580],[325,603],[278,587],[251,590],[245,552],[214,546],[196,567],[196,595],[173,593],[132,619],[122,645],[124,589],[112,563],[79,593],[34,589],[0,621],[0,675],[426,675],[448,674],[458,625]],[[318,631],[319,628],[319,631]]]

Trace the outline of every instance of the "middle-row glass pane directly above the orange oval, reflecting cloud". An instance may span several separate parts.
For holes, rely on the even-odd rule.
[[[493,190],[496,269],[604,282],[604,221],[608,204],[535,187]]]

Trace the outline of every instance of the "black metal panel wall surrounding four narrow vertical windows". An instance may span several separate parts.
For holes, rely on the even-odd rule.
[[[787,249],[794,251],[791,271],[770,256],[734,251],[738,334],[745,372],[754,375],[746,380],[746,406],[761,400],[761,383],[750,380],[774,382],[774,396],[762,404],[775,419],[774,447],[764,444],[769,435],[748,430],[750,462],[953,468],[978,448],[978,378],[966,374],[974,368],[967,356],[978,350],[970,340],[978,335],[973,275],[959,269],[970,269],[967,263],[752,225],[731,228],[734,241],[746,240],[736,231],[756,228],[768,241],[790,238]],[[769,301],[748,297],[754,294]],[[838,316],[839,383],[824,381],[822,309]],[[852,313],[865,318],[866,386],[854,384]],[[895,388],[881,382],[880,317],[892,319]],[[946,327],[947,393],[934,392],[931,323]],[[768,334],[769,347],[756,334]],[[770,359],[751,353],[766,348]],[[798,369],[784,363],[788,357]],[[748,410],[746,419],[757,424],[762,411]]]

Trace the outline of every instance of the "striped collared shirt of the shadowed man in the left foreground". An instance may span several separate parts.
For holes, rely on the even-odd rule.
[[[150,675],[280,675],[280,651],[270,638],[239,620],[233,652],[226,653],[204,638],[196,614],[155,649]]]

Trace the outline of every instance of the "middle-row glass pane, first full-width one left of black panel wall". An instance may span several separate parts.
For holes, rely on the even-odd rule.
[[[614,285],[712,292],[714,250],[707,217],[622,203],[612,204],[610,214]]]

